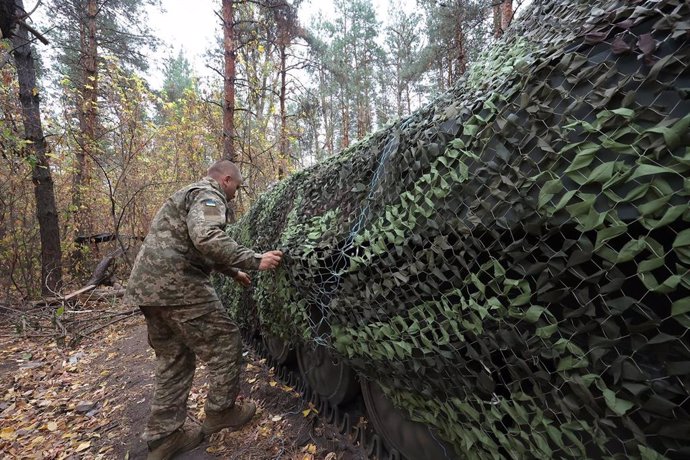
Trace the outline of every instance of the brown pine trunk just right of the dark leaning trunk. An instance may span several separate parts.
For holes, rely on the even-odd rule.
[[[96,41],[96,0],[87,0],[86,15],[80,24],[80,71],[78,104],[80,149],[77,151],[77,164],[72,182],[72,209],[74,212],[74,232],[76,236],[92,233],[84,212],[83,190],[89,183],[89,158],[95,153],[96,125],[98,120],[98,43]],[[78,256],[78,254],[77,254]]]

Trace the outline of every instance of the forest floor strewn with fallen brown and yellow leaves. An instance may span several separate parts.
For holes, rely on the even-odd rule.
[[[0,311],[0,458],[146,457],[140,434],[154,373],[146,324],[137,311],[118,302],[92,303],[88,308],[67,310],[57,323],[35,314],[20,315],[19,310],[9,316]],[[103,318],[114,319],[101,324]],[[91,326],[88,334],[82,327],[70,336],[70,321],[101,326]],[[63,333],[56,335],[56,328]],[[264,359],[251,351],[244,355],[240,398],[256,401],[257,414],[241,430],[216,433],[179,458],[365,458],[351,440],[320,425],[314,408],[275,379]],[[199,363],[187,423],[203,421],[206,388],[207,372]]]

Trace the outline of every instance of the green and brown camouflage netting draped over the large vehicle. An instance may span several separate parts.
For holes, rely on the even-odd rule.
[[[228,308],[460,458],[688,458],[689,38],[687,1],[535,1],[453,91],[264,194],[231,233],[285,265]]]

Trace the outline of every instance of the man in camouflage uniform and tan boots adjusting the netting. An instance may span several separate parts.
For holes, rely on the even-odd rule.
[[[235,404],[239,392],[241,339],[210,281],[212,271],[248,286],[241,270],[278,267],[282,252],[257,254],[225,232],[228,200],[242,175],[221,160],[208,177],[168,198],[156,214],[127,284],[127,298],[146,318],[149,343],[156,352],[156,385],[151,415],[142,438],[149,460],[168,459],[196,447],[206,435],[238,428],[251,420],[256,405]],[[196,357],[209,369],[206,420],[187,429],[187,397]]]

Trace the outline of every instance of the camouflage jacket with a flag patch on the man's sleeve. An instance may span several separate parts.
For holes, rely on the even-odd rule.
[[[134,261],[125,301],[132,305],[192,305],[218,300],[213,270],[256,269],[261,256],[226,233],[228,204],[210,177],[175,192],[153,219]]]

